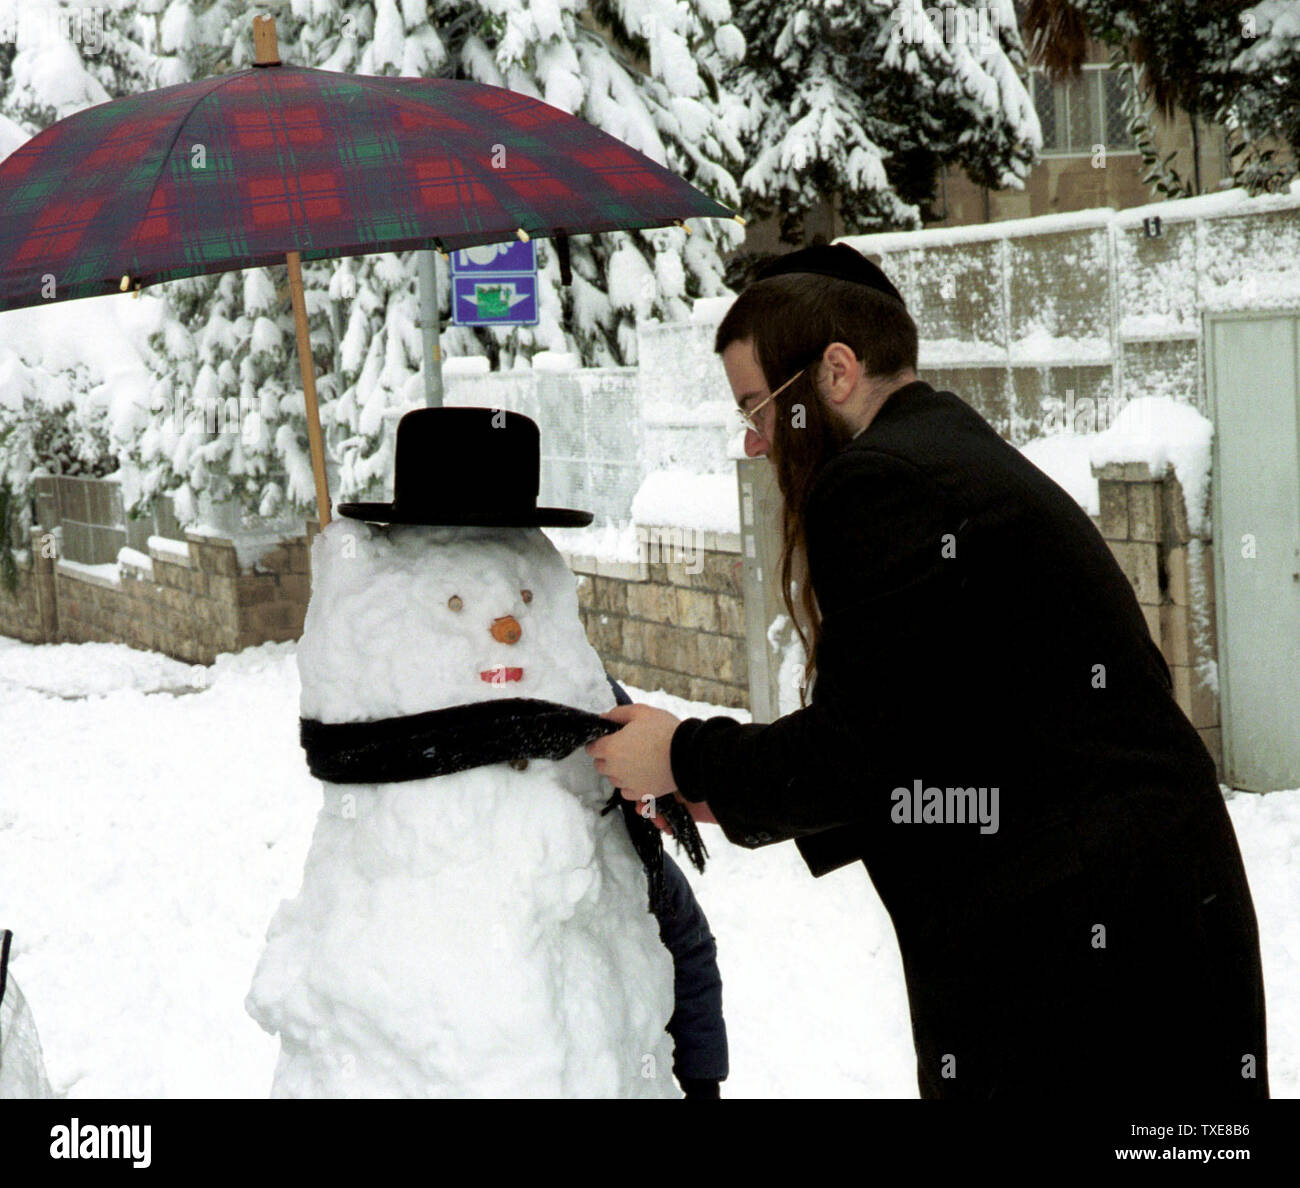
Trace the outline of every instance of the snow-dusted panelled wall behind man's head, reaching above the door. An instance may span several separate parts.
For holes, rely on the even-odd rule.
[[[1300,308],[1300,185],[838,242],[898,285],[924,378],[1015,445],[1070,400],[1108,409],[1096,430],[1143,396],[1204,413],[1201,316]]]

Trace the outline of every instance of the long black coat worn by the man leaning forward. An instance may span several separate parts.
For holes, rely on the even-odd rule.
[[[682,723],[673,777],[737,845],[794,838],[814,875],[866,863],[922,1096],[1266,1096],[1214,763],[1084,511],[915,382],[823,468],[806,529],[809,706]],[[902,816],[931,788],[946,819]]]

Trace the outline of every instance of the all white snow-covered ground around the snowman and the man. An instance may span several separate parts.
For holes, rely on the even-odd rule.
[[[159,691],[151,691],[159,690]],[[629,690],[680,716],[740,711]],[[188,665],[0,638],[0,925],[56,1092],[265,1096],[277,1042],[243,1010],[320,803],[294,645]],[[1230,794],[1264,938],[1275,1097],[1300,1097],[1300,789]],[[686,866],[718,937],[728,1096],[909,1097],[898,949],[861,866],[706,829]]]

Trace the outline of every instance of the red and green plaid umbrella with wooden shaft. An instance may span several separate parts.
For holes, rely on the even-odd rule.
[[[537,99],[286,66],[254,29],[252,69],[78,112],[0,164],[0,309],[287,260],[322,524],[300,259],[736,217]]]

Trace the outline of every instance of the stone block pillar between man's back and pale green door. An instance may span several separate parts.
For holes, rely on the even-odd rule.
[[[1191,530],[1173,471],[1115,463],[1093,468],[1093,474],[1100,497],[1093,523],[1138,594],[1179,707],[1222,773],[1210,539]]]

